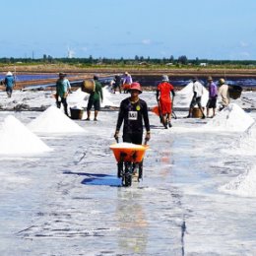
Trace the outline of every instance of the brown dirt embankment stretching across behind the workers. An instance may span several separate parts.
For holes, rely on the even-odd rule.
[[[161,76],[166,74],[169,77],[193,77],[198,76],[200,78],[212,77],[236,77],[236,78],[256,78],[256,69],[226,69],[226,68],[152,68],[152,67],[139,67],[131,68],[126,66],[124,68],[109,68],[109,67],[96,67],[96,68],[80,68],[70,66],[66,64],[58,65],[28,65],[28,66],[4,66],[0,68],[1,73],[12,71],[17,76],[19,74],[58,74],[64,72],[68,74],[70,81],[84,80],[93,78],[94,74],[98,74],[99,77],[106,77],[114,74],[123,74],[128,71],[131,75],[140,76]],[[56,79],[42,79],[31,81],[18,81],[16,89],[23,89],[32,85],[46,85],[53,84]]]

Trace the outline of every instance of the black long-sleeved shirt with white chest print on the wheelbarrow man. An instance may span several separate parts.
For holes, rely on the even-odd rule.
[[[139,98],[137,102],[131,102],[130,97],[121,101],[117,119],[116,130],[120,130],[122,122],[123,133],[143,133],[143,121],[147,131],[150,131],[148,106],[146,101]]]

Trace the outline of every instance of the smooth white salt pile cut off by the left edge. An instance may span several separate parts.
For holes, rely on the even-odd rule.
[[[0,154],[38,154],[51,149],[34,135],[23,123],[8,115],[0,130]]]

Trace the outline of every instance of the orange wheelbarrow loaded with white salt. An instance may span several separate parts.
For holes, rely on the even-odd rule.
[[[143,158],[148,145],[136,145],[132,143],[116,143],[110,146],[117,161],[117,177],[122,178],[123,186],[131,186],[133,176],[138,181],[143,176]]]

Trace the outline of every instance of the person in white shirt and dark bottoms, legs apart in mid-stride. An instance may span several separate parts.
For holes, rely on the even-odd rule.
[[[201,97],[204,94],[204,86],[198,81],[197,77],[194,77],[192,81],[193,81],[193,97],[190,102],[189,112],[187,117],[188,118],[192,117],[193,107],[197,104],[202,113],[202,118],[204,119],[206,118],[206,116],[204,114],[204,109],[201,104]]]

